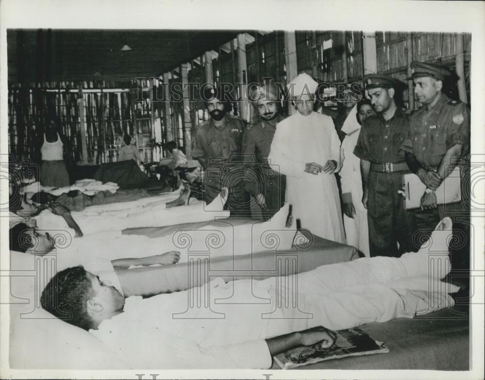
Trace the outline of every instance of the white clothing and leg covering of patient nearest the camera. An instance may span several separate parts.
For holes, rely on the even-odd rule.
[[[191,360],[180,361],[186,354],[181,342],[206,348],[229,345],[233,350],[239,343],[314,326],[347,329],[452,306],[448,293],[458,289],[440,281],[449,267],[429,259],[427,251],[409,253],[402,259],[364,258],[323,265],[283,281],[270,278],[225,283],[216,279],[183,292],[146,299],[129,297],[124,313],[103,321],[91,332],[133,367],[192,368]],[[447,255],[440,255],[440,260],[447,259]],[[209,295],[209,308],[197,308],[197,303],[189,307],[191,297],[203,305],[200,297],[204,294]],[[146,336],[152,339],[139,340]],[[163,357],[153,355],[168,342],[182,351],[164,350]],[[191,355],[194,352],[190,350]],[[265,355],[264,350],[259,352],[260,357]],[[198,362],[199,358],[194,358],[194,363]],[[220,361],[217,367],[226,364]],[[251,363],[246,367],[252,367]]]

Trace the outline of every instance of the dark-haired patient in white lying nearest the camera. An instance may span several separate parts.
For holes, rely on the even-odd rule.
[[[209,289],[145,299],[131,294],[123,271],[116,289],[82,267],[68,268],[49,282],[41,303],[89,330],[132,368],[267,368],[275,347],[301,343],[299,334],[274,338],[283,339],[280,346],[272,337],[320,325],[352,328],[453,305],[448,293],[457,289],[440,281],[450,271],[450,233],[446,218],[420,251],[401,258],[361,258],[263,281],[219,279],[203,285]],[[209,303],[184,318],[194,291],[199,296],[207,291]],[[331,344],[331,337],[325,339]]]

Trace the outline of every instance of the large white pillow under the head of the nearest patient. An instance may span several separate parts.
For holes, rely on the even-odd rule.
[[[52,255],[10,252],[9,363],[16,369],[121,369],[121,362],[88,331],[55,318],[40,306],[52,276]]]

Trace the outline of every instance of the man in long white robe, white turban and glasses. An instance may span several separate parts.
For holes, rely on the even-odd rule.
[[[330,116],[313,111],[318,83],[300,74],[288,89],[298,112],[276,125],[271,167],[287,176],[287,201],[303,229],[345,243],[339,190],[340,140]]]

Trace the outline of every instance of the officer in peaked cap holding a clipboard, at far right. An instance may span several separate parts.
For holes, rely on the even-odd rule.
[[[451,74],[446,68],[415,61],[411,69],[408,80],[414,82],[422,106],[410,116],[411,134],[402,149],[409,168],[426,185],[421,208],[414,212],[417,228],[414,239],[422,243],[436,221],[452,217],[456,244],[451,244],[451,251],[457,252],[452,255],[452,266],[463,268],[469,264],[469,224],[464,204],[464,196],[469,194],[464,186],[464,178],[468,177],[468,167],[464,164],[469,160],[469,110],[464,103],[451,100],[442,92],[443,81]],[[462,201],[437,206],[435,190],[457,164],[461,170]]]

